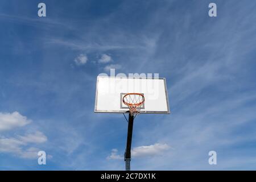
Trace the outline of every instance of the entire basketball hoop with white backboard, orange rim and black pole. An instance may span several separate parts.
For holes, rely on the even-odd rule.
[[[151,85],[151,89],[147,88],[148,85]],[[148,95],[161,97],[148,99]],[[125,169],[130,171],[131,140],[136,115],[140,113],[170,114],[166,78],[98,76],[94,113],[122,113],[124,115],[128,125],[124,155]],[[129,119],[126,118],[125,113],[129,113]]]

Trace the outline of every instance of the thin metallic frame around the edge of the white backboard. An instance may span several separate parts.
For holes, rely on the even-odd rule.
[[[98,80],[99,78],[112,78],[113,76],[97,76],[96,82],[96,93],[95,93],[95,103],[94,103],[94,113],[127,113],[129,111],[120,111],[120,110],[97,110],[97,101],[98,101]],[[171,114],[170,105],[169,105],[169,98],[167,92],[167,84],[166,78],[143,78],[143,77],[116,77],[113,78],[126,78],[126,79],[150,79],[150,80],[164,80],[164,91],[166,93],[166,104],[167,104],[167,111],[141,111],[141,114]]]

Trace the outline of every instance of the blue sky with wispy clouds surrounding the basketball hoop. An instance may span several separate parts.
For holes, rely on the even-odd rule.
[[[131,169],[256,169],[256,2],[43,2],[0,2],[0,169],[123,170],[123,115],[93,113],[109,68],[167,78],[172,114],[135,119]]]

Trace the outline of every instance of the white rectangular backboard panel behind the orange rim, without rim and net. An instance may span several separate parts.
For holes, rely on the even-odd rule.
[[[170,114],[165,78],[127,78],[98,76],[95,113],[127,113],[122,98],[126,93],[141,93],[144,104],[141,113]]]

